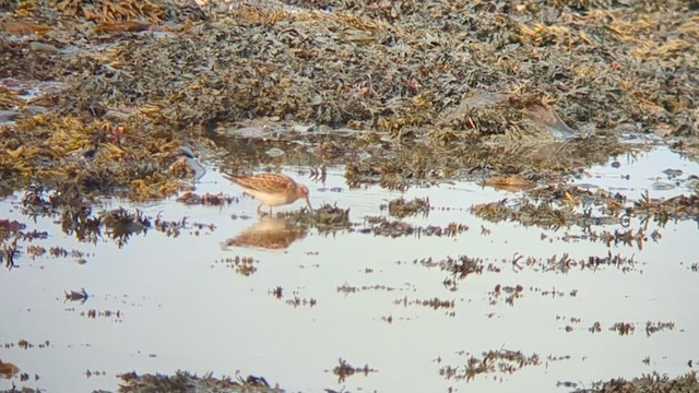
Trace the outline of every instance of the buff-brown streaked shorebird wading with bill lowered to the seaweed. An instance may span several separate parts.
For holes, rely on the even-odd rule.
[[[312,209],[310,205],[310,200],[308,198],[308,188],[306,188],[306,186],[304,184],[297,183],[296,181],[294,181],[294,179],[286,175],[224,175],[224,177],[242,187],[242,190],[246,193],[257,198],[260,201],[260,205],[258,206],[258,214],[262,214],[262,205],[269,206],[270,215],[272,215],[272,207],[294,203],[300,198],[306,200],[309,209]]]

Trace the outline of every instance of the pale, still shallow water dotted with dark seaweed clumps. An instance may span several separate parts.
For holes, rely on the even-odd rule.
[[[574,182],[614,188],[629,199],[640,198],[645,190],[652,198],[671,198],[692,192],[682,180],[699,175],[699,165],[664,147],[612,162],[591,168],[590,176]],[[667,168],[683,174],[667,178],[662,172]],[[253,200],[240,198],[227,207],[187,206],[175,200],[151,204],[105,200],[99,209],[138,207],[150,217],[159,214],[180,221],[186,216],[189,223],[215,226],[198,234],[182,230],[176,238],[150,230],[118,247],[106,237],[96,245],[80,242],[61,231],[56,217],[33,222],[21,213],[16,194],[0,202],[0,218],[26,224],[25,231],[46,230],[48,239],[32,243],[80,250],[85,263],[48,254],[32,259],[24,252],[15,258],[17,267],[1,271],[4,346],[0,359],[15,364],[31,379],[0,380],[0,390],[15,383],[51,392],[115,391],[121,372],[170,374],[181,369],[214,377],[236,371],[264,376],[288,391],[304,392],[450,388],[562,392],[570,389],[557,386],[559,382],[582,388],[653,370],[678,376],[690,369],[689,360],[699,364],[699,313],[694,305],[699,297],[699,272],[692,270],[699,263],[697,222],[671,222],[663,227],[650,223],[645,233],[656,229],[660,238],[649,236],[642,248],[607,247],[577,237],[584,235],[579,227],[554,231],[479,219],[470,213],[472,205],[518,194],[474,182],[401,193],[378,187],[348,189],[342,167],[330,168],[325,183],[310,181],[306,168],[284,171],[309,186],[316,206],[336,203],[350,209],[359,229],[366,226],[366,216],[388,215],[379,206],[400,196],[429,198],[429,214],[405,218],[407,223],[446,226],[455,222],[470,229],[455,237],[399,238],[360,230],[334,235],[310,230],[284,250],[224,247],[226,240],[260,222]],[[654,190],[661,180],[677,186]],[[197,183],[197,192],[240,195],[215,171]],[[637,219],[630,223],[630,227],[640,226]],[[608,225],[604,229],[625,228]],[[564,253],[573,260],[612,253],[633,264],[566,273],[545,267],[546,259]],[[445,285],[451,278],[449,272],[414,262],[460,255],[482,259],[485,269],[455,287]],[[535,262],[526,265],[518,255]],[[252,258],[257,270],[245,275],[223,262],[236,257]],[[513,260],[520,262],[513,264]],[[498,285],[502,290],[496,296]],[[521,296],[508,302],[505,287],[518,285]],[[343,286],[346,290],[339,290]],[[87,301],[66,301],[66,290],[83,287],[91,295]],[[283,288],[281,299],[272,295],[276,287]],[[453,301],[453,307],[422,305],[430,299]],[[90,310],[96,311],[94,318],[88,317]],[[591,332],[595,322],[601,329]],[[635,331],[628,335],[611,331],[618,322],[631,324]],[[647,322],[672,322],[674,329],[648,335]],[[20,347],[22,340],[33,346]],[[39,346],[46,342],[47,346]],[[465,377],[470,357],[481,359],[483,353],[498,350],[537,355],[540,361],[524,367],[500,361],[512,372],[497,369],[469,380],[457,378]],[[332,370],[340,359],[376,372],[339,381]],[[448,368],[457,377],[448,378]]]

